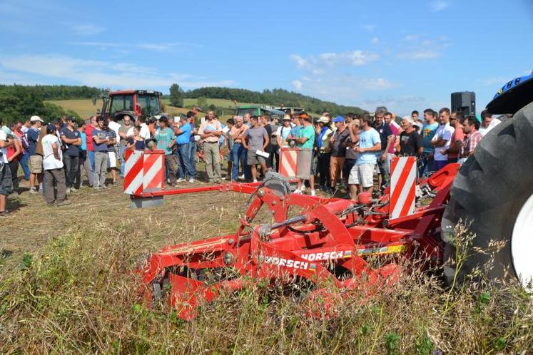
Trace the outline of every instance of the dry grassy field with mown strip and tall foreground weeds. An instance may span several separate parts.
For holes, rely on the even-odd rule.
[[[406,262],[400,281],[372,297],[365,290],[339,297],[336,317],[310,317],[302,297],[261,283],[180,321],[166,304],[143,306],[131,271],[163,245],[235,231],[246,196],[175,195],[163,207],[131,210],[119,184],[68,198],[72,205],[51,208],[27,191],[9,197],[11,217],[0,220],[0,354],[533,351],[528,294],[483,282],[450,290],[438,269],[422,272],[417,261]]]

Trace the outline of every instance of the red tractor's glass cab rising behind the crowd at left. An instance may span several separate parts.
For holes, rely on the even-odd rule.
[[[160,115],[161,95],[158,91],[148,90],[113,91],[103,98],[101,112],[114,120],[121,120],[123,115],[133,118]]]

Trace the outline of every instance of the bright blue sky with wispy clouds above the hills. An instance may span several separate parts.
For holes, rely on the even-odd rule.
[[[533,0],[0,0],[0,83],[285,88],[372,110],[480,110],[533,69]]]

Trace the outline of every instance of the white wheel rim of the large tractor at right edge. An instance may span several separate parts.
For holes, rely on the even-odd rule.
[[[514,222],[511,238],[511,257],[520,282],[533,292],[533,195],[529,196]]]

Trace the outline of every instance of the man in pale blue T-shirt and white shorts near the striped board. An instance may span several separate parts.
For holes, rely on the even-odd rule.
[[[359,142],[353,148],[359,157],[350,170],[350,197],[357,202],[358,192],[370,192],[374,190],[374,168],[377,160],[377,153],[381,151],[380,133],[372,128],[372,118],[365,113],[361,118],[361,130]]]

